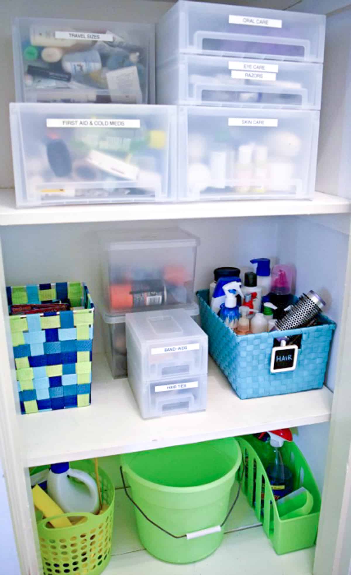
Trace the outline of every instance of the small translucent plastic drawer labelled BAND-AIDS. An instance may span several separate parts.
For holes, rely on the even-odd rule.
[[[207,335],[184,309],[127,313],[126,344],[141,382],[207,373]]]

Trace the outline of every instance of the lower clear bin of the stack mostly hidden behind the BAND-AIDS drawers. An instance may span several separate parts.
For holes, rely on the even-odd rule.
[[[183,309],[191,317],[199,315],[199,306],[189,304]],[[114,378],[127,377],[127,346],[125,330],[125,313],[113,314],[102,312],[103,342],[107,361]]]

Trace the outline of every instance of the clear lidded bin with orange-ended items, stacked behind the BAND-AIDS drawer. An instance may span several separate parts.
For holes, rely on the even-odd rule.
[[[103,293],[112,313],[194,301],[197,237],[179,228],[99,235]]]

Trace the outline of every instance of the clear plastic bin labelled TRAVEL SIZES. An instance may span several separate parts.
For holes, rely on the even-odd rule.
[[[17,102],[155,104],[155,26],[53,18],[12,25]]]

